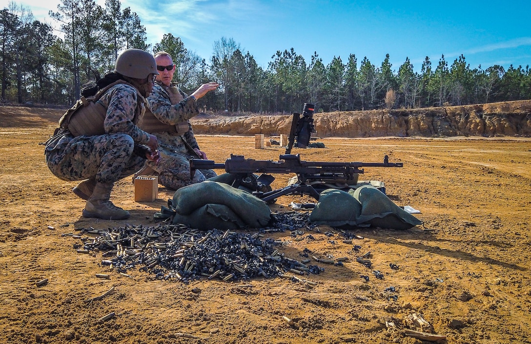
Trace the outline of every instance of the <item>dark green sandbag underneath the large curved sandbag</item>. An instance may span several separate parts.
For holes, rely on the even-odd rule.
[[[235,230],[245,228],[245,223],[229,207],[222,204],[206,204],[190,215],[176,213],[173,224],[182,223],[190,228],[208,231],[211,229]]]

